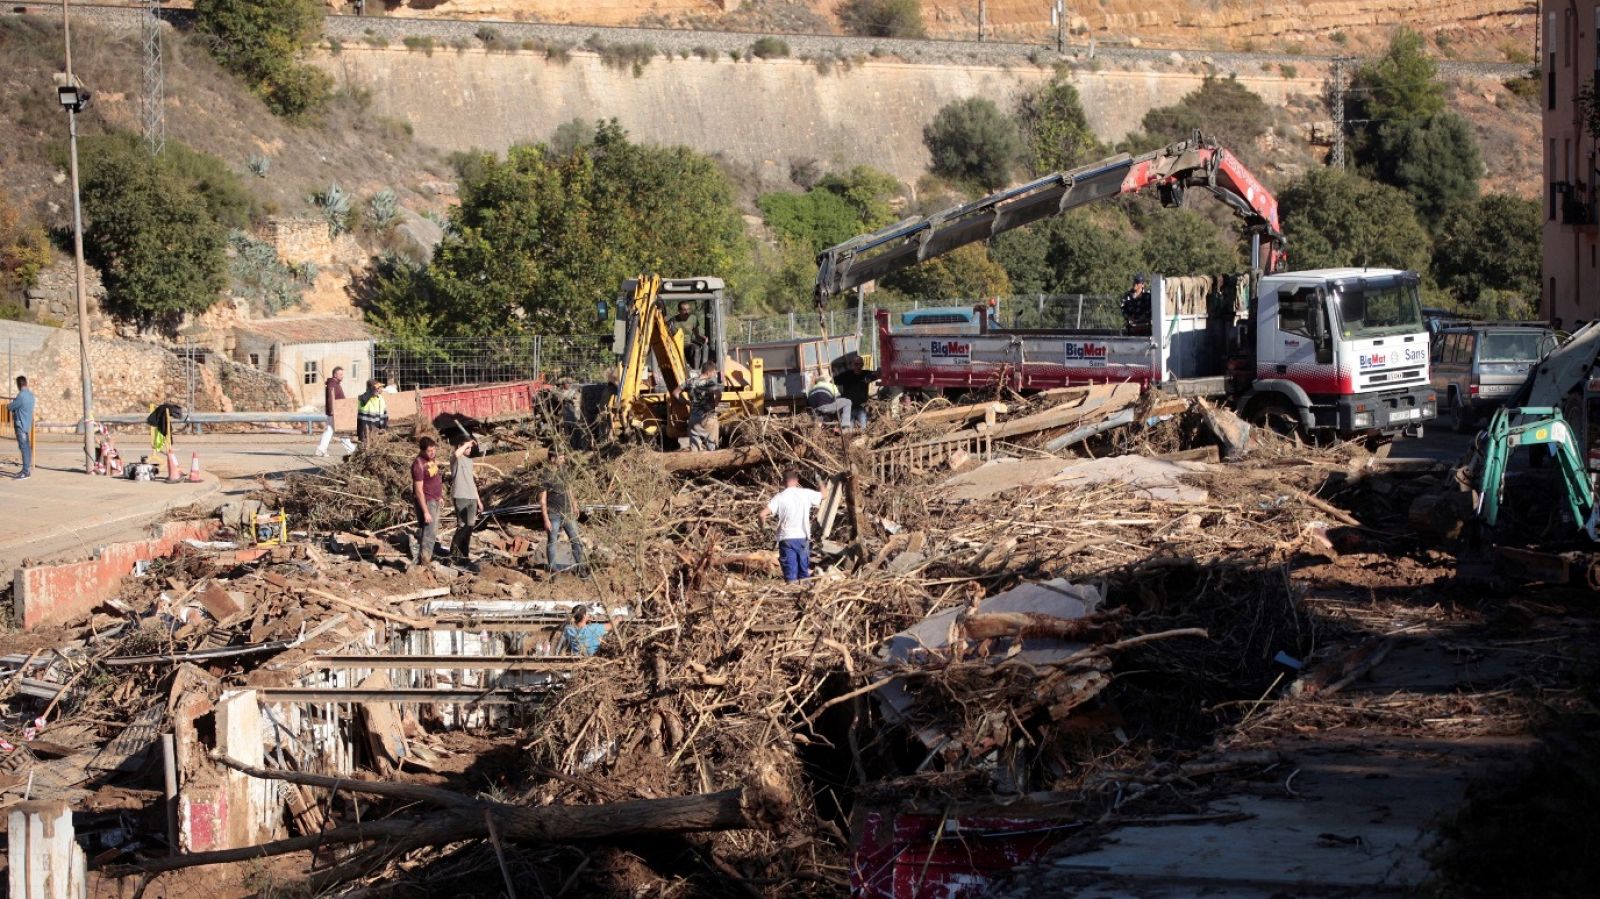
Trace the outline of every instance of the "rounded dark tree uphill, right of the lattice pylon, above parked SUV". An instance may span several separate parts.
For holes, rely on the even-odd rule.
[[[1454,112],[1382,125],[1376,146],[1379,179],[1410,194],[1429,226],[1478,195],[1483,154],[1472,125]]]

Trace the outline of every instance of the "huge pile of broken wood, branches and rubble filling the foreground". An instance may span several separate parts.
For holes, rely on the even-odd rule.
[[[1189,400],[1072,389],[606,446],[568,472],[592,561],[565,574],[525,430],[480,432],[502,453],[478,571],[405,563],[414,443],[390,434],[256,497],[286,545],[246,560],[234,507],[86,621],[0,645],[0,803],[115,805],[78,825],[102,875],[301,853],[314,889],[870,893],[862,859],[898,843],[861,837],[869,809],[1186,809],[1274,765],[1240,761],[1262,733],[1403,713],[1357,688],[1403,657],[1402,619],[1448,614],[1397,605],[1453,574],[1406,525],[1448,470],[1240,435]],[[787,465],[826,496],[800,584],[758,517]],[[592,657],[562,648],[578,605],[616,621]],[[206,824],[218,797],[259,827]],[[629,817],[659,809],[699,811]]]

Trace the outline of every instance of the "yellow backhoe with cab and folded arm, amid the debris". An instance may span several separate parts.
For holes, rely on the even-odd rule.
[[[611,414],[618,437],[688,437],[690,406],[672,392],[707,362],[722,373],[725,414],[763,411],[760,360],[747,368],[728,354],[722,278],[640,275],[622,282],[613,350],[619,357]]]

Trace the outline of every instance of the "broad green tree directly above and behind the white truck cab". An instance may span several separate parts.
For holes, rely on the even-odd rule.
[[[1278,194],[1278,206],[1294,269],[1427,266],[1427,230],[1405,192],[1387,184],[1314,170]]]

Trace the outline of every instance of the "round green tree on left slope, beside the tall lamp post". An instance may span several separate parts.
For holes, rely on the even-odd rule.
[[[90,138],[80,155],[83,251],[106,282],[106,309],[166,330],[210,309],[227,285],[227,229],[208,195],[128,134]]]

